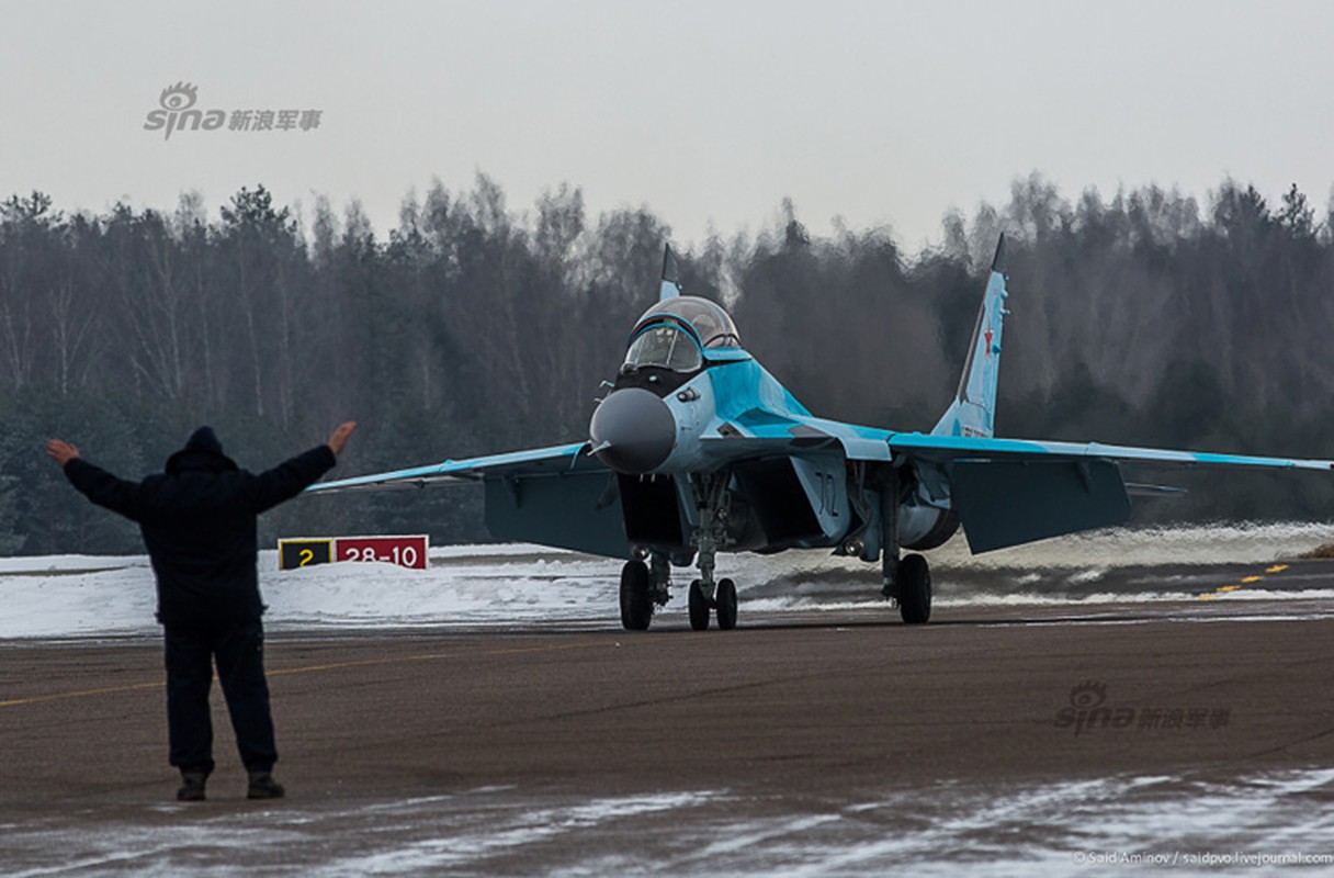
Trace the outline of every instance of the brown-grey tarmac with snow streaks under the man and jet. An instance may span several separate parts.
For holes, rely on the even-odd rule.
[[[1302,575],[1321,594],[1331,572]],[[7,642],[0,859],[19,875],[1074,874],[1138,851],[1317,870],[1334,855],[1331,638],[1334,599],[1299,594],[948,606],[924,627],[743,603],[731,632],[683,614],[648,632],[285,632],[267,661],[289,798],[244,801],[217,713],[219,770],[192,806],[171,801],[156,642]]]

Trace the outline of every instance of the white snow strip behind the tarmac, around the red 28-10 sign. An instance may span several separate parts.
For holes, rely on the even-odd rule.
[[[938,583],[951,571],[970,576],[1010,571],[1003,590],[956,595],[942,588],[942,606],[960,602],[1047,603],[1065,592],[1029,592],[1034,570],[1059,570],[1066,582],[1087,580],[1079,600],[1106,595],[1107,570],[1161,564],[1270,563],[1334,542],[1330,524],[1118,528],[968,555],[960,538],[930,554]],[[328,630],[439,624],[504,624],[536,620],[618,619],[619,560],[524,544],[446,546],[431,550],[430,570],[342,562],[277,570],[276,550],[260,552],[260,588],[269,630]],[[819,583],[872,575],[874,564],[827,551],[726,555],[720,567],[739,587],[743,606],[766,611],[810,608],[822,600],[878,603],[874,586],[856,584],[830,596]],[[1015,574],[1015,571],[1019,571]],[[664,612],[684,612],[678,570]],[[747,594],[750,592],[750,594]],[[1254,598],[1237,592],[1229,599]],[[1165,595],[1155,595],[1165,596]],[[1179,595],[1177,595],[1179,596]],[[156,630],[152,570],[144,555],[0,558],[0,639],[143,635]]]

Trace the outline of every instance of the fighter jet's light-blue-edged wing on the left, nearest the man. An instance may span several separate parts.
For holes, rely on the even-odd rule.
[[[527,479],[587,472],[590,470],[604,471],[606,467],[596,458],[582,454],[586,447],[587,443],[576,442],[566,446],[551,446],[550,448],[531,448],[528,451],[492,454],[482,458],[467,458],[464,460],[446,460],[408,470],[391,470],[388,472],[374,472],[350,479],[320,482],[305,488],[305,492],[325,494],[370,488],[420,488],[428,484],[480,482],[487,476]]]

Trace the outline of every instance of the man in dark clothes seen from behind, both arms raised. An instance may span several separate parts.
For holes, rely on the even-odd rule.
[[[356,422],[328,444],[260,472],[223,454],[211,427],[196,430],[167,460],[167,471],[125,482],[79,456],[61,439],[47,455],[89,500],[136,522],[157,580],[157,620],[167,652],[167,730],[171,765],[181,774],[180,801],[203,801],[213,771],[208,690],[217,663],[236,747],[249,773],[247,797],[271,799],[277,750],[264,679],[264,634],[256,572],[256,516],[296,496],[336,463]]]

